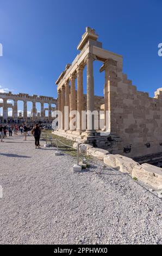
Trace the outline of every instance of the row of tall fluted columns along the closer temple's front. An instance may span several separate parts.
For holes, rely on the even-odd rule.
[[[89,53],[86,57],[86,65],[87,65],[87,113],[89,115],[89,111],[94,111],[94,62],[93,54]],[[83,65],[79,65],[76,69],[76,72],[71,74],[70,80],[65,81],[64,86],[58,90],[58,110],[62,112],[62,129],[65,130],[65,120],[64,120],[64,107],[68,106],[70,111],[76,110],[76,86],[75,80],[77,78],[77,112],[79,115],[77,116],[77,131],[82,132],[82,111],[84,110],[84,94],[83,94]],[[71,82],[71,88],[69,83]],[[89,130],[89,118],[87,118],[87,132],[94,131],[94,122],[92,121],[92,129]],[[59,117],[59,122],[61,122]],[[67,127],[68,128],[68,127]],[[68,129],[67,129],[68,130]],[[72,128],[70,127],[70,130]]]

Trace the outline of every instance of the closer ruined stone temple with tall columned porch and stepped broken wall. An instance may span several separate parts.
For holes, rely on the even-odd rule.
[[[77,50],[80,53],[67,64],[56,84],[58,90],[58,110],[63,113],[59,118],[61,129],[55,134],[74,141],[91,143],[95,147],[108,149],[110,153],[128,157],[150,155],[162,151],[162,88],[154,97],[138,92],[136,87],[123,74],[121,55],[102,48],[94,29],[86,27]],[[104,97],[94,95],[94,61],[101,62],[100,72],[105,74]],[[86,95],[83,94],[83,70],[86,66]],[[77,89],[76,81],[77,80]],[[102,88],[102,84],[99,85]],[[76,119],[76,129],[65,127],[65,107],[70,112],[80,113]],[[86,110],[86,127],[82,124],[82,111]],[[90,127],[89,113],[101,110],[99,121],[104,126],[95,129],[92,118]],[[71,118],[71,117],[70,117]],[[95,117],[94,117],[95,118]]]

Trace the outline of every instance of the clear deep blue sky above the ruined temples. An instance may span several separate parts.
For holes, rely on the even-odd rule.
[[[0,89],[57,97],[55,81],[89,26],[103,48],[122,54],[123,71],[138,90],[153,96],[162,87],[161,10],[161,0],[0,0]],[[95,94],[103,95],[99,66]]]

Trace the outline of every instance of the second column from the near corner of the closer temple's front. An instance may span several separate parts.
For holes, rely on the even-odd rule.
[[[77,68],[77,131],[82,132],[82,111],[84,106],[83,97],[83,66]]]

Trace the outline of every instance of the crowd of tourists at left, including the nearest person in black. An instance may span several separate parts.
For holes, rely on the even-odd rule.
[[[40,135],[41,135],[41,129],[43,127],[40,127],[39,124],[33,125],[16,125],[16,124],[1,124],[0,125],[0,142],[4,142],[3,139],[7,138],[7,133],[9,133],[9,137],[14,135],[17,135],[17,132],[20,131],[21,135],[24,135],[24,141],[27,141],[27,135],[30,135],[30,132],[35,138],[35,148],[40,148]]]

